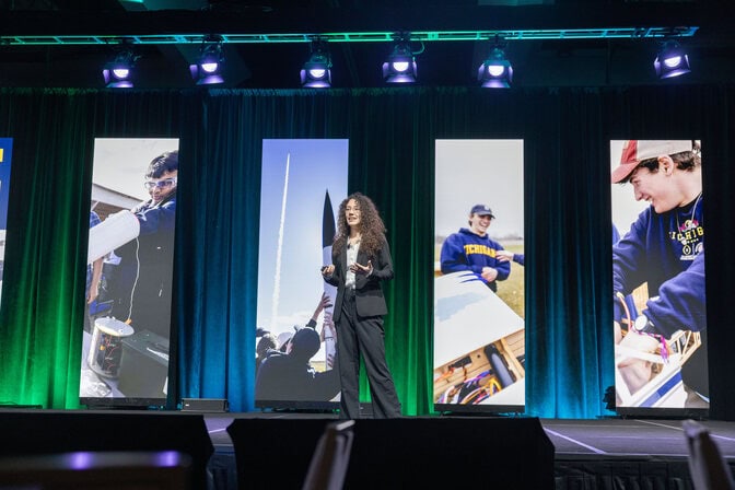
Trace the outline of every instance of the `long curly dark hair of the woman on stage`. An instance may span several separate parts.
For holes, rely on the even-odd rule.
[[[350,226],[347,224],[347,203],[354,199],[360,207],[360,249],[368,255],[375,255],[383,246],[385,241],[385,224],[377,212],[375,203],[368,196],[361,192],[352,192],[339,205],[337,219],[337,236],[331,246],[332,256],[339,256],[340,252],[347,245],[347,238],[350,236]]]

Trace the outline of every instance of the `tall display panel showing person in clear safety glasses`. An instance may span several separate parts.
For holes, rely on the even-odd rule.
[[[178,139],[95,139],[83,405],[165,405],[177,185]]]

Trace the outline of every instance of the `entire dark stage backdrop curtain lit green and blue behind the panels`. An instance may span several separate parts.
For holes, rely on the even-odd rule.
[[[0,89],[14,138],[0,402],[78,406],[94,137],[178,137],[177,335],[170,406],[254,409],[264,138],[349,138],[348,190],[374,198],[396,279],[388,362],[406,415],[432,411],[433,186],[438,138],[523,139],[528,415],[594,418],[612,380],[609,140],[701,138],[708,217],[711,415],[735,419],[732,86],[360,91]],[[492,155],[489,155],[492,158]],[[462,162],[457,162],[457,167]],[[318,183],[313,183],[318,187]],[[488,182],[492,200],[495,183]],[[318,273],[318,271],[315,271]],[[716,366],[714,369],[713,366]],[[363,380],[364,385],[364,380]]]

